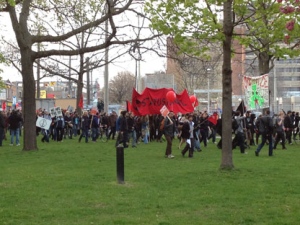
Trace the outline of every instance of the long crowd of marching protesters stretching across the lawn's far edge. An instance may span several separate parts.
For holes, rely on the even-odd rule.
[[[85,110],[82,116],[77,112],[63,111],[62,116],[51,117],[46,110],[37,110],[37,118],[43,117],[51,120],[49,129],[36,127],[36,135],[41,141],[62,142],[66,139],[77,139],[80,143],[84,138],[85,143],[98,140],[115,140],[115,146],[136,148],[137,144],[166,141],[165,157],[173,159],[173,140],[176,148],[181,150],[184,157],[193,157],[195,151],[207,148],[208,142],[214,143],[222,149],[222,120],[217,112],[209,115],[206,111],[194,111],[190,114],[181,114],[170,111],[167,117],[159,115],[135,116],[132,112],[121,111],[119,115],[112,111],[91,113]],[[22,135],[23,117],[20,110],[0,112],[0,146],[10,134],[9,145],[19,146]],[[281,143],[282,149],[293,144],[299,138],[299,112],[280,111],[270,115],[256,117],[256,114],[247,111],[244,114],[239,110],[233,111],[232,116],[232,148],[239,147],[242,154],[247,154],[246,149],[256,146],[255,155],[259,156],[265,144],[269,148],[269,156],[273,156],[273,149]],[[260,141],[260,142],[259,142]],[[201,147],[202,148],[201,148]]]

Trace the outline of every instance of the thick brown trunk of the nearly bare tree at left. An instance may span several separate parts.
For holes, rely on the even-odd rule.
[[[22,78],[24,95],[22,99],[22,111],[24,116],[23,150],[37,150],[36,142],[36,104],[35,104],[35,80],[33,75],[33,61],[31,49],[21,50]]]

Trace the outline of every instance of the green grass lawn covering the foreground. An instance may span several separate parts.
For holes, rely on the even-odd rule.
[[[166,143],[125,149],[125,184],[117,183],[114,142],[41,143],[38,151],[0,147],[0,224],[11,225],[291,225],[300,224],[300,145],[234,150],[220,171],[213,143],[174,159]],[[281,149],[281,146],[278,146]]]

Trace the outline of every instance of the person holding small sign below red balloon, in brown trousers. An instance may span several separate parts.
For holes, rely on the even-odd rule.
[[[170,111],[168,116],[164,120],[164,135],[167,141],[167,147],[165,152],[165,157],[168,159],[173,159],[172,155],[172,141],[174,138],[174,132],[176,130],[176,123],[174,120],[174,113]]]

